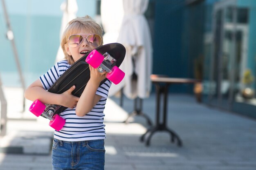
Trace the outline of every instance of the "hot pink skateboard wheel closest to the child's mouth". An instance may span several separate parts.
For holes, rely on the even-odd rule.
[[[93,68],[98,68],[103,62],[104,57],[97,50],[92,50],[85,59],[85,62],[90,64]]]

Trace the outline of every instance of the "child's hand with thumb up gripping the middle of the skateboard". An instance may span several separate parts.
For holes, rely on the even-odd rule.
[[[72,95],[72,91],[74,91],[75,88],[75,86],[72,86],[70,89],[61,94],[61,106],[68,108],[76,107],[79,97]]]

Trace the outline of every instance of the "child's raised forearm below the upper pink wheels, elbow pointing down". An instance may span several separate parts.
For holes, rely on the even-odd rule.
[[[82,95],[79,98],[79,101],[76,105],[76,115],[84,116],[89,113],[92,108],[99,102],[102,96],[96,95],[97,89],[99,88],[99,84],[103,79],[106,78],[105,73],[99,73],[99,71],[90,66],[90,79],[85,86],[85,89]]]

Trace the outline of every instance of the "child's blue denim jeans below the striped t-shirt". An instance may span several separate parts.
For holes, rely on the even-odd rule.
[[[53,170],[104,170],[104,140],[61,141],[53,140]]]

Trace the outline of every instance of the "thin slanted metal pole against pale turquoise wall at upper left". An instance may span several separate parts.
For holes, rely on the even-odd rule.
[[[8,16],[8,13],[7,13],[7,9],[6,9],[4,0],[2,0],[2,7],[3,7],[3,11],[4,11],[4,17],[5,17],[5,20],[6,20],[6,24],[7,24],[7,27],[8,27],[7,38],[11,41],[11,45],[12,45],[12,48],[13,48],[13,53],[14,53],[14,57],[15,57],[15,60],[16,60],[18,73],[20,75],[21,86],[22,86],[23,92],[25,92],[25,82],[24,82],[24,78],[23,78],[23,75],[22,75],[22,70],[21,70],[21,67],[20,67],[20,61],[19,61],[19,57],[18,57],[18,52],[17,52],[16,44],[14,42],[14,35],[13,35],[13,31],[11,29],[11,23],[10,23],[10,20],[9,20],[9,16]],[[24,111],[25,111],[25,98],[23,97],[23,112]]]

